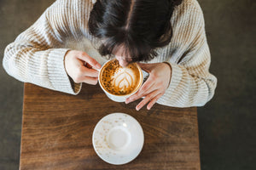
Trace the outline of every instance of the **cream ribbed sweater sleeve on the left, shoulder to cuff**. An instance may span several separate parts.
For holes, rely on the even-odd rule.
[[[84,1],[85,3],[89,1]],[[82,13],[81,4],[75,0],[57,0],[4,52],[3,68],[21,82],[78,94],[81,83],[74,83],[64,67],[64,56],[69,50],[63,47],[65,37],[77,37]],[[86,5],[86,4],[85,4]]]

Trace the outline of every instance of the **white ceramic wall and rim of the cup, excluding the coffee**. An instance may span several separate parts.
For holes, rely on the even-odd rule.
[[[102,78],[101,78],[102,71],[104,71],[103,68],[104,68],[105,65],[107,65],[108,62],[110,62],[110,61],[112,61],[112,60],[108,60],[104,65],[102,65],[102,69],[99,71],[99,72],[100,72],[100,73],[99,73],[99,77],[98,77],[98,79],[99,79],[99,84],[100,84],[102,90],[105,92],[105,94],[107,94],[107,96],[108,96],[109,99],[112,99],[113,101],[116,101],[116,102],[125,102],[125,99],[129,98],[132,94],[136,94],[137,91],[138,91],[138,89],[142,86],[142,84],[143,84],[143,71],[142,71],[141,67],[140,67],[139,65],[137,65],[137,63],[135,63],[135,65],[137,65],[137,69],[138,69],[138,71],[139,71],[139,73],[140,73],[140,78],[139,78],[139,84],[137,85],[137,88],[136,88],[135,90],[133,90],[133,91],[131,92],[131,94],[125,94],[125,95],[110,94],[106,89],[104,89],[104,88],[102,87]]]

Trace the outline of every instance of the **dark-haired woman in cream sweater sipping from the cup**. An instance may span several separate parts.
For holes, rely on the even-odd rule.
[[[57,0],[9,44],[3,67],[22,82],[79,94],[82,82],[97,83],[96,69],[104,56],[113,55],[123,66],[143,62],[139,65],[149,73],[137,94],[125,101],[144,97],[137,111],[155,102],[189,107],[212,99],[217,79],[209,73],[204,19],[196,0]]]

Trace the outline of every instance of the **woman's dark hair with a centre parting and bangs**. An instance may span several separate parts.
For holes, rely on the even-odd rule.
[[[97,0],[90,12],[89,31],[103,40],[99,53],[125,49],[129,62],[148,61],[155,49],[172,38],[171,17],[182,0]]]

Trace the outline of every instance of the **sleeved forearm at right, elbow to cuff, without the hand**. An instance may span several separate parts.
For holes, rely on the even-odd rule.
[[[202,106],[212,99],[217,85],[209,73],[210,54],[207,42],[183,64],[170,63],[172,77],[166,93],[158,100],[162,105],[175,107]]]

